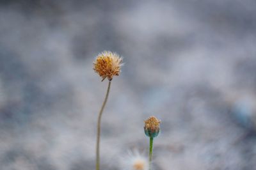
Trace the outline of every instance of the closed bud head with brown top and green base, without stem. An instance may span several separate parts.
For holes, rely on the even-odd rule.
[[[144,121],[144,131],[148,137],[157,137],[160,132],[160,120],[157,120],[155,116],[150,116]]]

